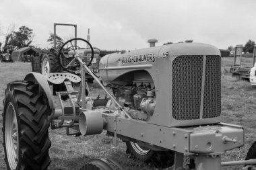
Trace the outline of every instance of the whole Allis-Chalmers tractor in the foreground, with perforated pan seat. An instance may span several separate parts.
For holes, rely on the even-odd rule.
[[[90,62],[73,47],[74,41],[89,44]],[[69,44],[70,52],[63,49]],[[114,143],[120,138],[127,153],[158,167],[220,170],[245,165],[255,169],[255,144],[247,161],[221,162],[226,151],[244,145],[243,126],[220,122],[220,51],[193,42],[168,44],[108,54],[101,58],[99,75],[88,67],[94,58],[89,42],[75,38],[63,44],[58,54],[61,73],[28,73],[5,89],[3,146],[7,169],[47,169],[50,164],[48,129],[73,128],[77,134],[106,134]],[[65,62],[63,62],[63,60]],[[70,69],[79,67],[79,75]],[[86,73],[108,97],[92,97]],[[61,101],[55,108],[50,85]],[[79,91],[73,85],[79,84]],[[112,89],[113,95],[109,89]],[[67,95],[70,106],[63,105]],[[184,155],[190,161],[186,164]],[[187,157],[187,156],[186,156]],[[102,160],[101,160],[102,161]],[[82,169],[121,169],[115,161],[92,161]]]

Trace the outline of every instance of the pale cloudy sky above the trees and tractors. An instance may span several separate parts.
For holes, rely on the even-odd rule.
[[[133,50],[147,40],[194,40],[226,49],[256,40],[255,0],[0,0],[0,42],[8,26],[34,30],[34,46],[50,47],[54,23],[77,24],[77,37],[101,49]],[[57,34],[71,38],[73,28]]]

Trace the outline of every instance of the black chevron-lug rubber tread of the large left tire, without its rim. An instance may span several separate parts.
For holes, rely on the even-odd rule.
[[[44,104],[43,93],[39,85],[30,81],[15,81],[5,89],[5,102],[13,102],[18,116],[20,154],[17,169],[47,169],[51,163],[49,157],[49,120],[51,110]],[[5,110],[4,110],[5,112]],[[5,115],[4,115],[5,117]],[[3,124],[3,128],[5,125]],[[4,134],[3,137],[5,138]],[[5,146],[5,139],[3,140]],[[6,148],[5,162],[9,167]]]

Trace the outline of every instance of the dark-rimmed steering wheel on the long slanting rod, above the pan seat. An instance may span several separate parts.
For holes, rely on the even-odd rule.
[[[71,68],[73,67],[73,65],[75,65],[76,58],[84,55],[84,54],[79,54],[79,52],[77,51],[77,46],[75,44],[82,44],[82,46],[84,47],[86,47],[85,45],[87,44],[90,46],[92,56],[89,62],[86,64],[87,66],[89,66],[92,63],[92,60],[94,58],[94,50],[90,42],[82,38],[73,38],[71,40],[68,40],[61,46],[59,50],[58,58],[59,58],[59,64],[61,65],[62,69],[65,71],[69,71],[71,73],[74,72]],[[82,48],[82,46],[79,45],[79,49]],[[72,54],[69,55],[69,52],[72,52]]]

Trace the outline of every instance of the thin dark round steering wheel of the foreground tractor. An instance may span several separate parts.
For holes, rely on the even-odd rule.
[[[61,48],[59,49],[59,52],[58,52],[58,59],[59,59],[59,65],[62,67],[63,70],[65,71],[68,71],[68,72],[74,72],[73,70],[71,70],[71,64],[76,60],[77,57],[79,57],[79,54],[77,54],[77,52],[75,51],[75,46],[73,46],[72,42],[77,42],[77,41],[82,41],[82,42],[86,42],[86,44],[88,44],[90,46],[90,50],[91,50],[91,58],[90,58],[90,61],[87,63],[87,67],[92,63],[92,60],[94,58],[94,49],[92,48],[92,45],[90,44],[90,42],[88,42],[87,40],[84,40],[82,38],[73,38],[71,40],[68,40],[67,42],[65,42]],[[69,46],[68,48],[73,50],[74,52],[74,57],[72,58],[72,60],[70,61],[70,57],[67,57],[65,56],[65,52],[63,51],[63,49],[65,49],[65,46],[67,44],[71,44],[71,46]],[[67,65],[66,65],[67,63]]]

